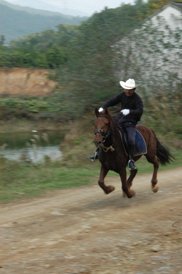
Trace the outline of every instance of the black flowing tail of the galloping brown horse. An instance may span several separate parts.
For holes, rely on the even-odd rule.
[[[170,152],[170,150],[166,146],[163,146],[159,142],[153,130],[152,132],[156,138],[156,149],[157,149],[156,156],[157,158],[159,158],[161,165],[165,166],[166,163],[176,161],[177,160],[176,157],[173,156],[173,154]]]

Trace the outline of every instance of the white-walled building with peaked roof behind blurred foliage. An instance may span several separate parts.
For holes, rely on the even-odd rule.
[[[182,83],[182,2],[169,2],[116,45],[119,79],[134,78],[145,94],[166,92]],[[147,80],[146,80],[147,79]]]

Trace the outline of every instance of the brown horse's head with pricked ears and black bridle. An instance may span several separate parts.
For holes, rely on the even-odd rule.
[[[102,146],[103,141],[106,140],[106,138],[110,135],[111,130],[113,129],[113,118],[109,114],[107,108],[105,108],[104,111],[99,112],[96,107],[95,115],[96,119],[93,122],[95,126],[95,138],[93,142],[96,145],[96,147],[100,148]]]

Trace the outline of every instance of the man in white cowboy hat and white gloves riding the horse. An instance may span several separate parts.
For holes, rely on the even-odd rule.
[[[142,99],[137,93],[135,93],[135,90],[141,84],[135,85],[134,79],[128,79],[126,82],[120,81],[120,85],[124,88],[124,91],[107,100],[102,107],[100,107],[99,112],[103,111],[105,107],[113,107],[118,103],[121,103],[122,110],[115,119],[127,132],[130,158],[128,168],[133,170],[136,169],[133,160],[135,152],[135,127],[137,122],[140,121],[143,113]],[[95,156],[89,156],[91,160],[98,159],[99,149],[96,149],[96,152]]]

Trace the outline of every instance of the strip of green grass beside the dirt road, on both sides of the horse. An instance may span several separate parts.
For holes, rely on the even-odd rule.
[[[182,154],[173,153],[178,162],[162,167],[159,170],[182,166]],[[148,163],[145,156],[137,162],[138,174],[153,172],[153,165]],[[90,184],[98,180],[100,173],[99,161],[89,160],[79,167],[69,168],[61,162],[45,161],[33,165],[0,158],[0,202],[10,202],[24,197],[35,197],[53,189],[63,189]],[[109,171],[110,177],[119,176]]]

